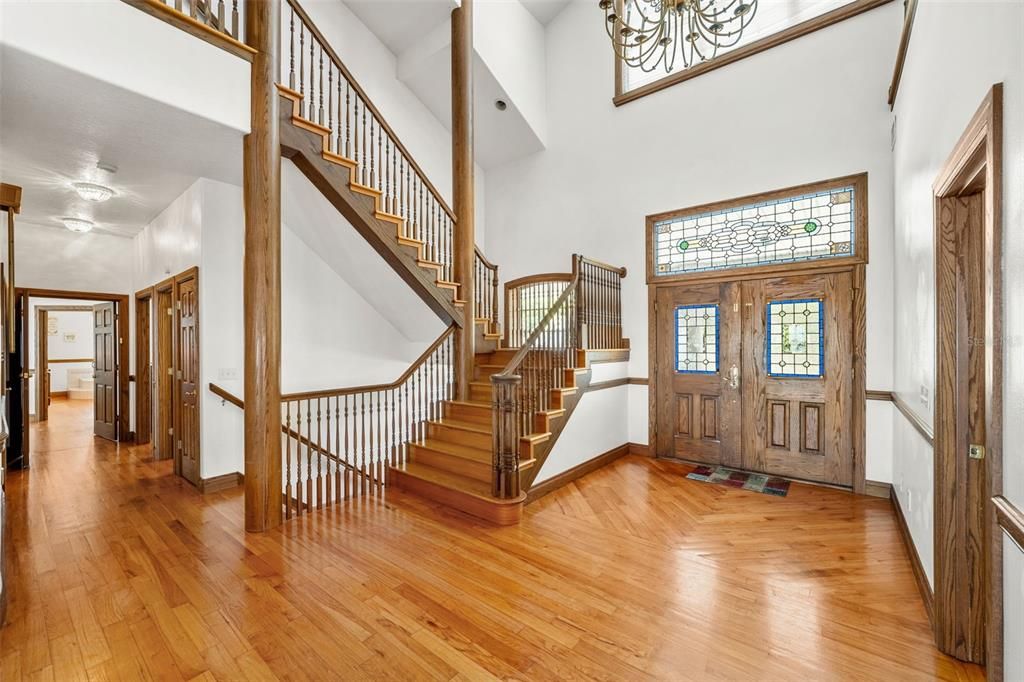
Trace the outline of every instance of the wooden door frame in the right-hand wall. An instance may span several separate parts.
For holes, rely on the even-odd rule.
[[[985,662],[989,679],[1002,679],[1002,543],[992,498],[1002,494],[1002,84],[993,85],[956,142],[935,183],[935,605],[933,628],[939,649]],[[970,505],[956,505],[948,491],[972,495],[965,443],[958,443],[958,372],[967,364],[957,352],[956,254],[940,220],[946,202],[984,190],[980,266],[984,296],[984,391],[967,391],[968,403],[985,407],[985,489],[978,504],[984,520],[972,532]],[[950,310],[950,304],[952,309]],[[955,497],[955,496],[954,496]],[[988,566],[958,558],[972,543],[987,544]],[[969,613],[959,602],[978,588],[988,589],[985,611]],[[985,617],[987,615],[987,617]],[[967,633],[974,635],[967,638]],[[977,635],[983,635],[983,639]],[[964,644],[969,639],[969,644]],[[979,639],[980,644],[979,644]],[[987,658],[987,660],[986,660]]]

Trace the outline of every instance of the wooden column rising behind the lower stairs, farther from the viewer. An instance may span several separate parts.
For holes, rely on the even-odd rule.
[[[459,284],[464,324],[456,335],[456,382],[460,400],[469,399],[476,337],[473,309],[473,0],[452,10],[452,173],[454,276]]]

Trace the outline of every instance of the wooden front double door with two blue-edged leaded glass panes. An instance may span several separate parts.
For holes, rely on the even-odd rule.
[[[655,294],[655,451],[853,484],[849,271]]]

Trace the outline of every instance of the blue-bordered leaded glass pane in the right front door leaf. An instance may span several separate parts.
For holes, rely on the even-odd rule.
[[[820,377],[824,374],[822,307],[817,299],[768,303],[768,376]]]

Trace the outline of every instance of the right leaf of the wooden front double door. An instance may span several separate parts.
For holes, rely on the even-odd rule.
[[[742,467],[853,484],[853,275],[742,283]]]

